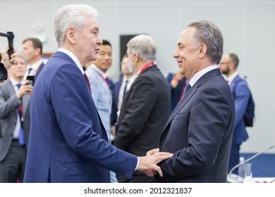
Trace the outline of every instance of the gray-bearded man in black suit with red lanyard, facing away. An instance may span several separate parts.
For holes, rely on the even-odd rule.
[[[170,114],[168,82],[156,63],[157,46],[152,37],[141,34],[127,44],[130,69],[137,75],[122,103],[114,146],[135,155],[158,148],[161,130]],[[152,182],[152,177],[135,172],[132,179],[118,182]]]

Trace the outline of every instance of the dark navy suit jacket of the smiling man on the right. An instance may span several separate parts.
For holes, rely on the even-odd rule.
[[[154,182],[227,182],[235,108],[219,68],[200,77],[176,106],[161,134],[159,163],[164,177]]]

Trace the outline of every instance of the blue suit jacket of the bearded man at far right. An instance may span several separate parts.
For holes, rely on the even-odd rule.
[[[248,88],[245,80],[240,78],[239,75],[235,77],[230,87],[236,108],[236,120],[234,125],[232,144],[240,145],[243,143],[243,141],[246,141],[248,139],[243,116],[245,115],[245,110],[248,104],[248,100],[250,98],[250,89]]]

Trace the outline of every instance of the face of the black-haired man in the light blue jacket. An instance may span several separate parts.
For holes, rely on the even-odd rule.
[[[97,54],[97,59],[93,62],[102,72],[106,72],[113,61],[111,46],[100,45],[99,53]]]

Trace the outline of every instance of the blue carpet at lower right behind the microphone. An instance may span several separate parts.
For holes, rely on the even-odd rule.
[[[246,160],[255,154],[240,153],[240,156]],[[261,154],[248,163],[252,163],[253,177],[275,177],[275,154]]]

